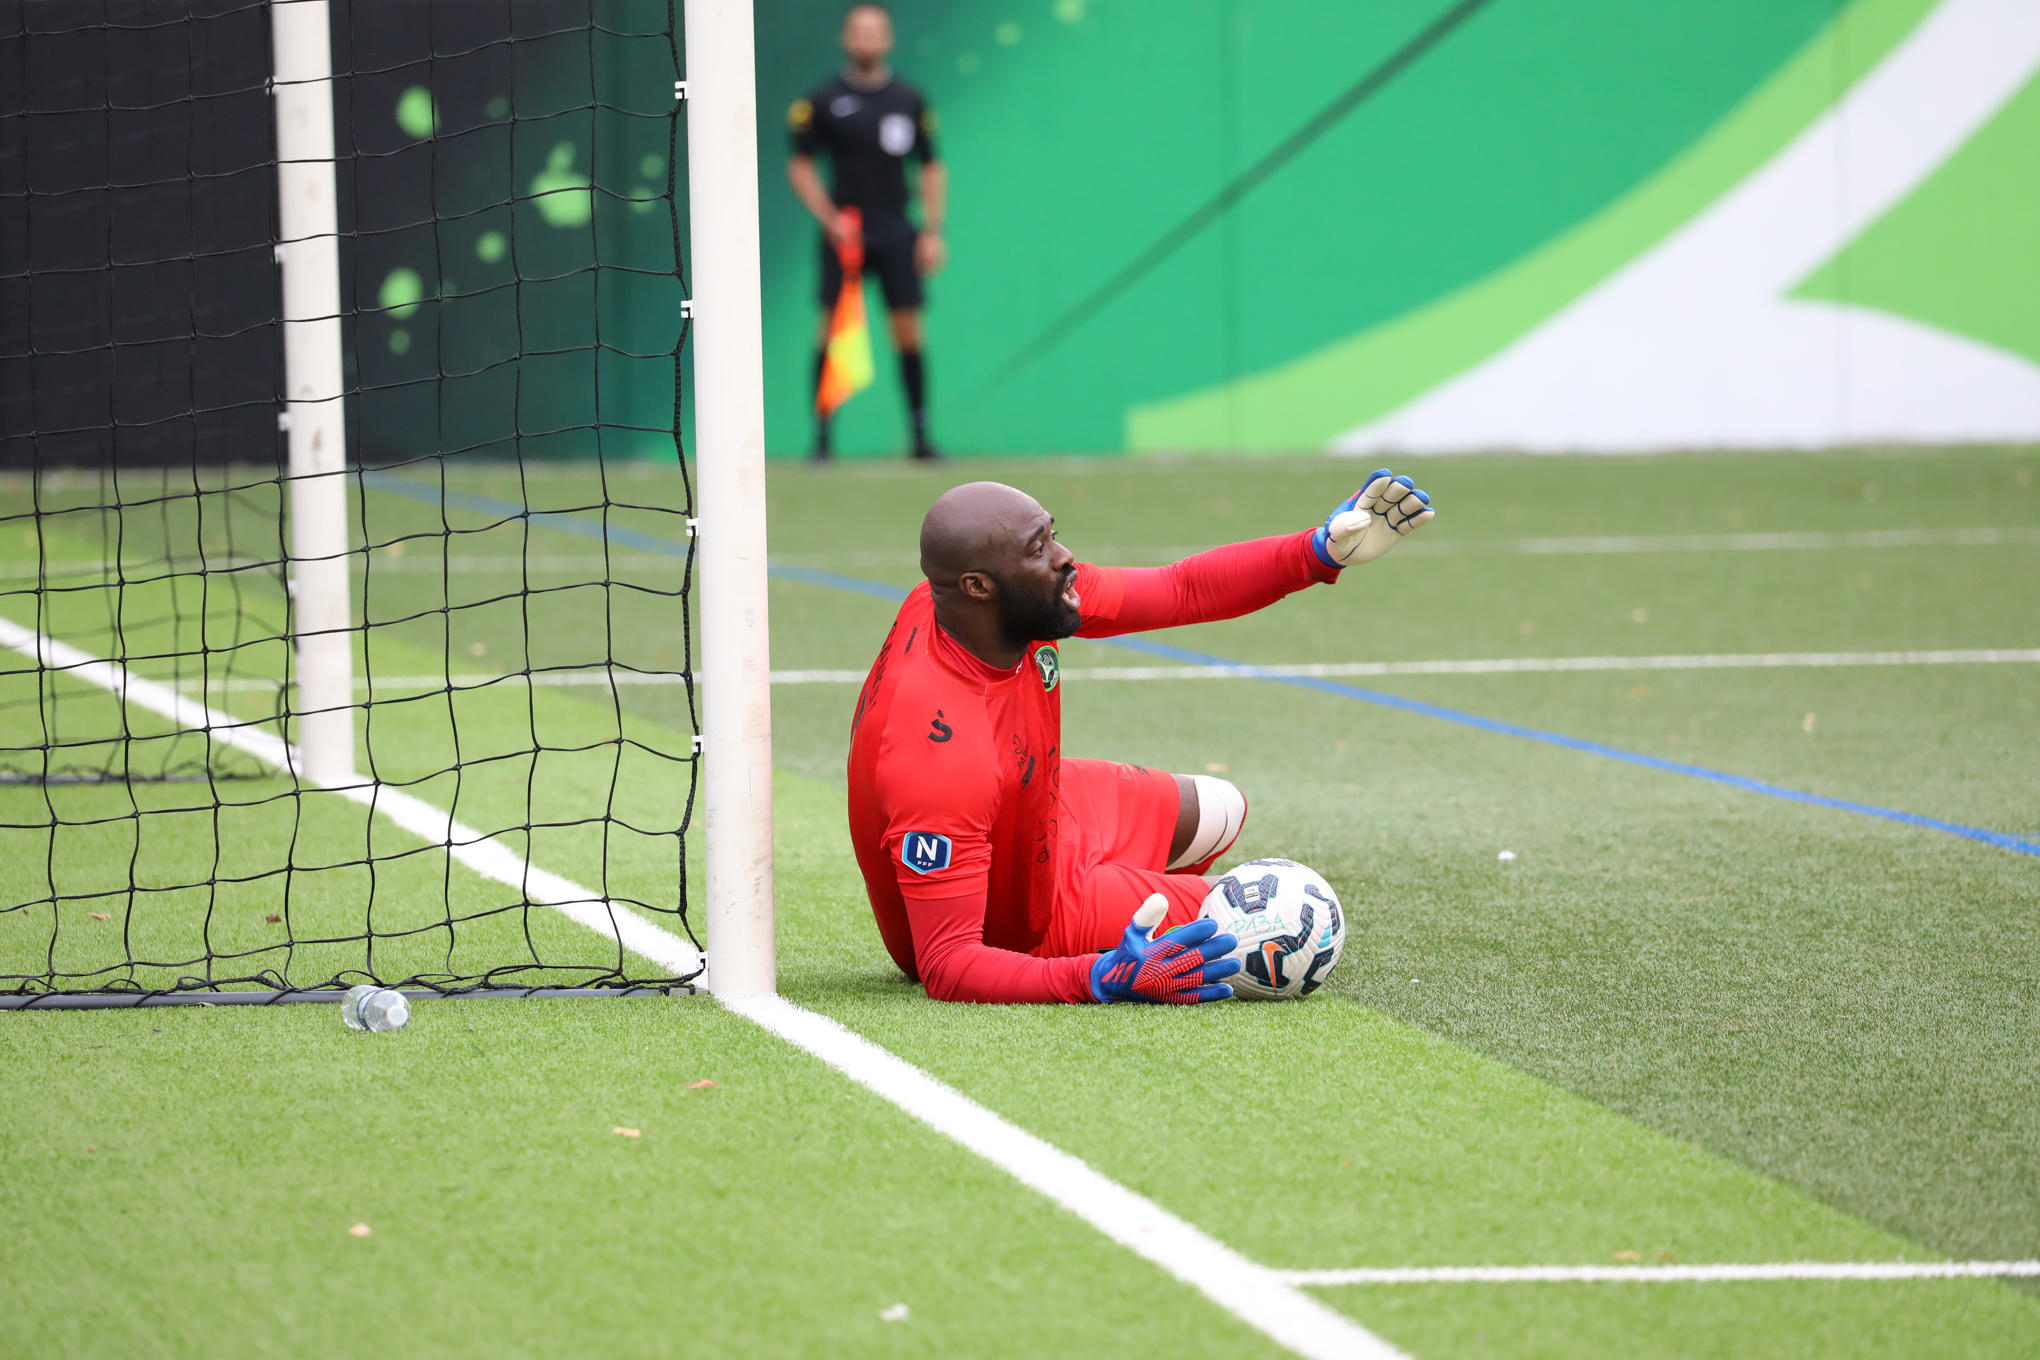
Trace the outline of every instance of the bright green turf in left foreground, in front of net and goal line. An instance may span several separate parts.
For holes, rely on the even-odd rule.
[[[1279,1354],[708,999],[10,1015],[0,1070],[8,1354]]]

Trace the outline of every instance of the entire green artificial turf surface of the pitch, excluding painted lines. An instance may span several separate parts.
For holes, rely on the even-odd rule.
[[[1255,663],[2030,648],[2040,646],[2036,469],[2026,451],[1430,461],[1408,471],[1440,518],[1367,575],[1157,640]],[[771,548],[775,561],[904,587],[928,500],[993,475],[1040,495],[1079,555],[1157,563],[1310,524],[1365,471],[1322,459],[775,469]],[[524,479],[483,467],[455,483],[583,518],[600,500],[569,467]],[[628,469],[612,493],[679,504],[669,469]],[[449,553],[475,559],[455,571],[441,561],[437,508],[369,493],[363,524],[379,546],[363,608],[375,675],[449,665],[486,675],[526,657],[671,665],[685,652],[663,595],[610,591],[610,610],[590,608],[594,595],[573,583],[592,579],[590,561],[604,571],[598,540],[555,522],[528,530],[526,555],[522,522],[486,506],[447,512],[459,530]],[[671,532],[655,512],[624,518],[643,534]],[[1952,528],[2007,540],[1514,546]],[[71,551],[90,540],[80,534]],[[610,553],[614,579],[677,581],[679,561],[645,542]],[[526,579],[539,593],[522,593]],[[247,599],[261,618],[255,585]],[[131,618],[145,616],[141,604]],[[102,606],[84,593],[57,622],[96,646]],[[861,671],[894,612],[798,579],[777,579],[771,606],[775,669]],[[249,646],[241,665],[261,675],[279,661]],[[2040,1256],[2030,1058],[2040,860],[1355,695],[1267,679],[1087,683],[1093,667],[1169,665],[1100,642],[1069,642],[1065,665],[1067,750],[1224,769],[1253,799],[1234,858],[1289,854],[1332,879],[1353,940],[1330,987],[1304,1005],[1187,1013],[928,1003],[885,958],[849,858],[840,787],[855,687],[818,683],[773,695],[792,999],[1277,1266]],[[2034,836],[2036,675],[1958,665],[1338,683]],[[377,697],[392,701],[359,736],[386,779],[422,779],[414,791],[439,805],[457,783],[461,818],[512,832],[518,850],[526,822],[559,822],[528,842],[537,865],[581,881],[610,875],[614,891],[669,903],[685,771],[649,756],[618,767],[608,738],[683,748],[683,689],[492,687],[459,695],[453,720],[443,695],[420,703],[379,687]],[[245,689],[214,703],[243,718],[273,712],[273,695]],[[102,701],[102,726],[108,712]],[[0,732],[18,734],[20,722],[18,703],[0,708]],[[455,736],[459,781],[435,775],[453,765]],[[120,787],[53,797],[67,809],[126,805]],[[137,797],[206,795],[169,785]],[[579,824],[612,799],[651,830],[604,842]],[[0,789],[4,822],[43,807],[41,793]],[[277,865],[275,807],[233,816],[228,852]],[[141,824],[145,836],[163,828]],[[328,795],[306,799],[298,830],[310,856],[300,862],[359,854],[359,812]],[[65,891],[126,879],[133,844],[122,848],[120,826],[65,828],[55,856],[18,854],[24,834],[0,832],[16,838],[0,846],[6,901],[47,895],[51,871]],[[386,826],[375,844],[416,842]],[[147,848],[153,871],[175,881],[202,879],[212,850],[202,826]],[[1518,858],[1499,862],[1503,848]],[[600,940],[543,909],[528,922],[490,916],[451,946],[435,928],[443,871],[432,856],[379,871],[377,911],[392,916],[377,922],[424,926],[379,942],[386,958],[428,969],[504,944],[516,954],[526,924],[549,960],[602,954]],[[359,871],[298,875],[292,930],[357,916],[349,873]],[[459,911],[516,899],[465,871],[447,885]],[[247,920],[259,905],[253,889],[226,893],[216,936],[265,946],[275,926]],[[118,960],[137,940],[175,954],[194,940],[184,899],[120,905],[104,924],[65,911],[75,960]],[[0,971],[47,946],[47,907],[0,911]],[[335,958],[328,946],[304,966],[345,966]],[[0,1197],[33,1225],[0,1248],[10,1342],[284,1350],[277,1338],[296,1327],[335,1336],[365,1313],[424,1350],[475,1338],[557,1350],[585,1344],[590,1327],[639,1338],[626,1350],[704,1354],[1263,1346],[708,1001],[428,1003],[390,1038],[345,1034],[326,1007],[0,1015],[0,1050],[14,1077],[0,1111]],[[722,1087],[681,1089],[698,1077]],[[622,1140],[610,1126],[645,1136]],[[347,1238],[357,1219],[375,1236]],[[108,1293],[120,1303],[92,1311],[88,1299]],[[2034,1291],[1995,1280],[1322,1297],[1420,1356],[2030,1354],[2040,1344]],[[910,1321],[881,1323],[877,1309],[896,1301]]]

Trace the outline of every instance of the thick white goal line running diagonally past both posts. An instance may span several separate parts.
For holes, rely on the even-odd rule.
[[[0,644],[33,657],[45,667],[61,667],[67,675],[100,685],[171,722],[200,728],[214,740],[247,750],[279,771],[298,769],[298,752],[275,734],[241,724],[155,681],[129,675],[75,646],[45,638],[4,618],[0,618]],[[475,873],[522,889],[532,901],[565,911],[581,926],[622,942],[624,948],[659,966],[692,971],[700,958],[685,940],[624,907],[606,903],[569,879],[534,869],[510,846],[461,826],[422,799],[373,783],[333,783],[326,787],[371,812],[386,814],[430,844],[447,844],[447,852]],[[1275,1270],[1246,1260],[1161,1205],[1008,1123],[918,1066],[845,1030],[834,1019],[769,995],[720,997],[720,1001],[730,1011],[796,1048],[804,1048],[851,1081],[891,1101],[945,1138],[963,1144],[1022,1185],[1047,1195],[1295,1354],[1310,1360],[1401,1360],[1401,1352],[1393,1346],[1289,1285]]]

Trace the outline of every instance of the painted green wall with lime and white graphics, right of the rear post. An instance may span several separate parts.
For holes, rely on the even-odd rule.
[[[928,367],[953,453],[2040,438],[2020,0],[891,8],[951,175]],[[361,457],[671,451],[669,194],[681,241],[712,206],[683,135],[667,165],[667,4],[343,10]],[[785,112],[840,67],[843,12],[757,0],[785,457],[818,318]],[[849,457],[906,444],[877,330]]]

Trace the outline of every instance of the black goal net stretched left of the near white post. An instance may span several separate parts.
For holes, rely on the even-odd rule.
[[[282,82],[294,4],[0,10],[0,997],[683,985],[673,6],[335,2]],[[333,106],[318,477],[279,84]]]

